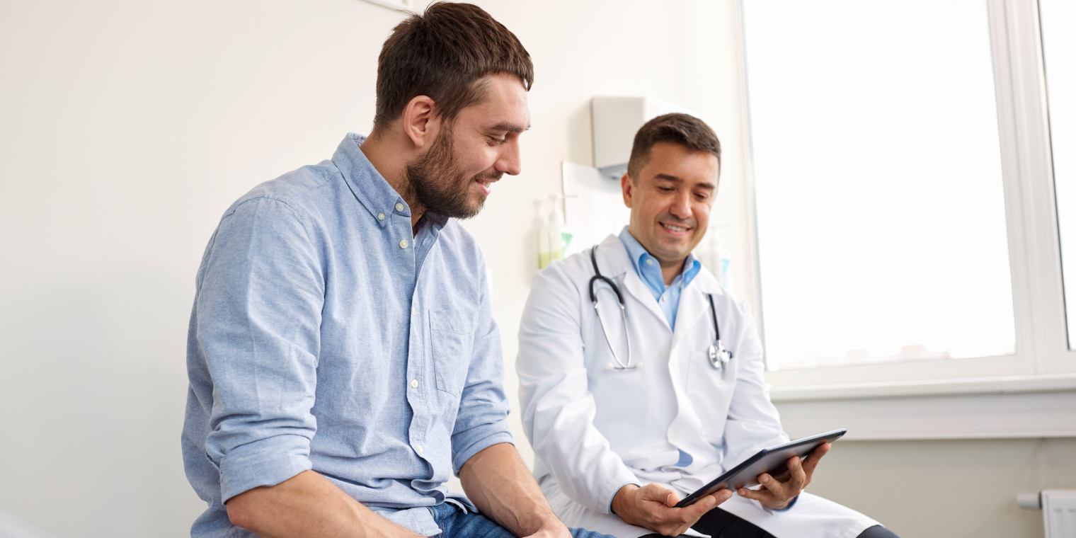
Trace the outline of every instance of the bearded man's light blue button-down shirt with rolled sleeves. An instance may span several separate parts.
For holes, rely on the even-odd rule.
[[[450,473],[512,441],[482,254],[436,214],[412,237],[363,140],[255,187],[206,249],[182,438],[209,505],[195,538],[253,537],[224,501],[307,469],[433,536]]]

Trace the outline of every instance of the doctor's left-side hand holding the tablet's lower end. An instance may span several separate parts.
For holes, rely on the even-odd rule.
[[[691,506],[674,508],[680,498],[672,491],[657,484],[639,487],[627,484],[612,497],[612,511],[624,522],[649,528],[663,536],[679,536],[710,511],[728,500],[733,492],[721,490],[699,498]]]

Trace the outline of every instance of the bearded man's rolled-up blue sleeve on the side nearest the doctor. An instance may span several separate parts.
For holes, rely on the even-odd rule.
[[[508,398],[505,397],[505,360],[500,330],[493,321],[485,264],[481,261],[482,301],[479,306],[467,381],[459,397],[459,412],[452,431],[452,470],[483,449],[513,442],[508,428]]]

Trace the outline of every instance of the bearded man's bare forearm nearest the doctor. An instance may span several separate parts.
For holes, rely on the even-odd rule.
[[[459,469],[459,482],[479,511],[515,536],[567,532],[509,443],[494,444],[471,456]]]

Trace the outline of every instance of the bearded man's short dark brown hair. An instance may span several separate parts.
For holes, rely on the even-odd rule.
[[[378,57],[378,107],[374,129],[384,127],[417,96],[437,105],[451,122],[466,107],[481,102],[491,74],[514,74],[529,90],[530,55],[505,25],[469,3],[436,2],[422,15],[396,25]]]

